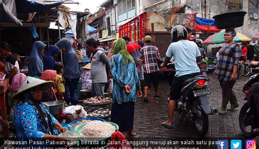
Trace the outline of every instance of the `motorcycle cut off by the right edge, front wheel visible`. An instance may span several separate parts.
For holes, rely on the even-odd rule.
[[[258,135],[253,132],[253,129],[257,128],[258,126],[258,122],[255,121],[252,110],[250,108],[250,101],[253,100],[253,96],[251,96],[251,86],[254,83],[258,82],[258,80],[259,73],[254,74],[248,79],[247,83],[243,87],[243,93],[245,96],[244,100],[246,100],[247,102],[244,103],[244,105],[240,109],[239,127],[246,138],[254,138]]]

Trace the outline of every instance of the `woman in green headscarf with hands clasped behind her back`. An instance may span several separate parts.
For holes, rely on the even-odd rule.
[[[119,125],[119,131],[127,131],[134,136],[134,104],[142,96],[138,72],[131,55],[127,52],[126,42],[120,38],[114,45],[115,55],[111,58],[113,77],[111,122]]]

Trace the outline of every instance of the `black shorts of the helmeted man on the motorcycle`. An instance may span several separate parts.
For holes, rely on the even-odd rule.
[[[181,90],[184,87],[183,82],[187,79],[193,78],[195,76],[199,76],[200,72],[198,73],[192,73],[192,74],[186,74],[180,77],[175,77],[172,81],[172,84],[170,86],[170,100],[177,100],[179,99],[181,95]]]

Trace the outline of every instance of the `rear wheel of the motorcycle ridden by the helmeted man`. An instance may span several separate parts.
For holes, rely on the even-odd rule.
[[[192,120],[195,131],[199,136],[204,136],[208,133],[209,129],[208,115],[203,111],[200,105],[197,104],[197,101],[194,102],[194,107],[197,111],[197,115]]]

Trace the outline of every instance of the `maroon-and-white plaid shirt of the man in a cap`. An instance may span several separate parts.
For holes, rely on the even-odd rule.
[[[143,61],[144,73],[157,72],[157,58],[160,58],[158,48],[148,44],[139,51],[139,60]]]

